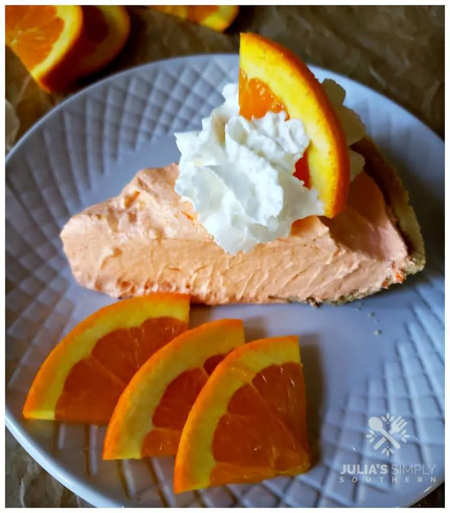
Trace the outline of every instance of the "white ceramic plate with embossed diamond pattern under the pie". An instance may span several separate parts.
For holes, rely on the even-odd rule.
[[[318,463],[297,478],[174,496],[172,459],[104,462],[103,427],[22,418],[27,390],[51,348],[111,301],[72,279],[62,226],[118,193],[140,168],[177,161],[174,131],[200,127],[221,102],[222,86],[237,80],[237,67],[235,55],[209,55],[110,77],[54,109],[9,155],[6,424],[46,470],[96,506],[410,505],[444,476],[444,145],[398,105],[321,69],[312,68],[345,87],[346,103],[398,167],[426,239],[425,270],[402,286],[340,307],[192,311],[193,324],[244,319],[249,340],[299,334]],[[368,418],[386,413],[402,416],[409,435],[389,456],[382,452],[387,444],[374,449],[379,433],[372,443],[366,437]],[[341,473],[344,465],[365,474]]]

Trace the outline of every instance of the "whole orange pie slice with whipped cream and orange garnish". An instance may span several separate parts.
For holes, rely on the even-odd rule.
[[[239,57],[226,102],[201,131],[176,134],[179,164],[139,171],[68,221],[74,278],[114,298],[317,305],[421,270],[407,192],[345,91],[260,36],[242,34]]]

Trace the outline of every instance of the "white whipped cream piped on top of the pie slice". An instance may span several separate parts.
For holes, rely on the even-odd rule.
[[[342,105],[340,86],[323,85],[353,144],[364,125]],[[236,254],[288,236],[294,221],[322,215],[324,207],[318,191],[293,176],[309,145],[303,123],[286,120],[285,112],[249,121],[239,115],[237,84],[222,94],[225,102],[202,120],[202,130],[175,134],[181,152],[175,191],[192,203],[216,244]],[[359,157],[350,156],[352,176],[364,166]]]

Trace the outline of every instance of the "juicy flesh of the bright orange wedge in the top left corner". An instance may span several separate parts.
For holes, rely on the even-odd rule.
[[[28,69],[45,61],[64,29],[55,6],[6,6],[6,41]]]

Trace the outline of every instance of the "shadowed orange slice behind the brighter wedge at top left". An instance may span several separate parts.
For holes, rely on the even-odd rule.
[[[120,5],[82,6],[83,31],[79,58],[73,63],[73,76],[81,77],[101,69],[124,47],[130,18]]]

